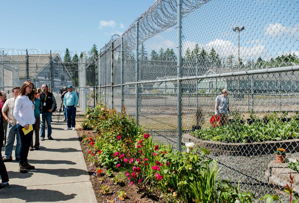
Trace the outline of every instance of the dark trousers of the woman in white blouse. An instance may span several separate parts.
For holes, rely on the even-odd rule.
[[[35,125],[33,124],[32,127],[34,129]],[[20,124],[17,124],[17,129],[20,134],[20,140],[21,140],[20,149],[19,149],[19,164],[22,164],[22,163],[28,161],[27,157],[28,157],[29,147],[31,144],[33,131],[34,131],[34,130],[31,130],[29,133],[24,135],[22,128],[23,128],[23,126],[21,126]]]

